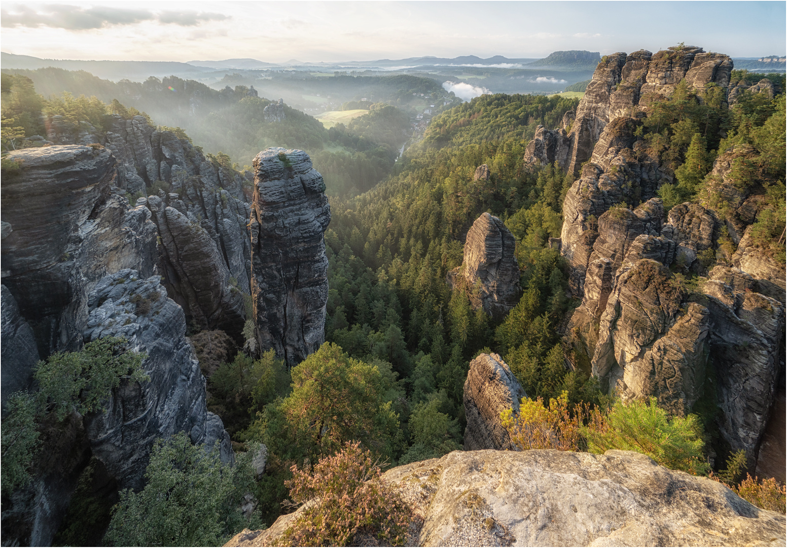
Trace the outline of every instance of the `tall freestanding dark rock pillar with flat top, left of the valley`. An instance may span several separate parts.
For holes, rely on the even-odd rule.
[[[302,150],[269,148],[254,158],[251,290],[257,343],[297,365],[325,339],[331,221],[323,176]]]

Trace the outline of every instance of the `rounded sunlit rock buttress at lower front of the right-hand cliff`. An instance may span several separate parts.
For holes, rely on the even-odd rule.
[[[708,309],[685,303],[659,262],[623,268],[600,318],[591,367],[602,388],[621,398],[654,395],[671,413],[689,413],[701,395]]]

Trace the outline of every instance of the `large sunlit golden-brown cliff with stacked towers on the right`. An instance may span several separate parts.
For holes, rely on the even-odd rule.
[[[656,395],[671,412],[689,413],[715,390],[722,436],[755,457],[783,368],[785,276],[750,237],[763,181],[741,188],[731,176],[754,151],[735,146],[715,160],[709,180],[730,204],[723,215],[687,202],[664,218],[654,196],[671,172],[636,135],[649,105],[682,79],[696,89],[726,88],[731,68],[729,57],[696,47],[615,54],[599,64],[564,166],[578,178],[563,203],[561,252],[571,291],[582,298],[565,339],[571,364],[624,399]],[[737,243],[732,255],[719,242],[725,231]],[[709,256],[719,265],[712,272],[704,269]],[[685,288],[671,272],[703,278]],[[715,387],[705,382],[708,367]]]

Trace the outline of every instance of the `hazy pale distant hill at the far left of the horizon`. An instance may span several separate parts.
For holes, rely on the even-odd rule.
[[[65,68],[65,70],[84,70],[106,80],[146,80],[148,76],[179,76],[194,78],[212,68],[196,67],[176,61],[79,61],[69,59],[40,59],[30,55],[0,54],[2,68]]]

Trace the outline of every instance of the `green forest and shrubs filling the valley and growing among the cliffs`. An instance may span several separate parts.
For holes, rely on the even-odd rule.
[[[755,83],[759,76],[733,72],[737,82]],[[673,181],[661,184],[658,191],[665,210],[682,202],[699,202],[725,211],[726,198],[718,191],[719,181],[711,170],[719,154],[740,151],[733,161],[733,178],[741,187],[756,187],[763,202],[752,239],[784,264],[780,235],[785,227],[785,95],[783,79],[777,80],[781,93],[775,98],[743,92],[733,106],[718,87],[710,86],[700,94],[684,82],[671,98],[653,102],[632,123],[642,149],[674,174]],[[415,85],[410,80],[401,82],[405,84]],[[235,88],[238,94],[247,91]],[[40,114],[63,116],[76,127],[89,122],[99,131],[109,113],[146,116],[117,100],[106,104],[98,98],[69,94],[44,99],[26,77],[5,73],[2,101],[6,149],[41,144],[28,139],[45,135]],[[331,476],[338,469],[331,466],[346,466],[347,455],[368,461],[363,473],[371,477],[379,473],[379,469],[370,472],[375,459],[390,467],[460,450],[466,425],[464,382],[469,362],[481,353],[500,354],[530,398],[523,404],[521,419],[512,418],[509,427],[519,428],[522,422],[516,420],[527,420],[531,413],[538,420],[552,420],[556,432],[574,428],[575,437],[560,449],[641,450],[670,468],[699,475],[711,472],[708,455],[718,432],[712,427],[713,409],[707,413],[700,409],[707,402],[698,407],[697,415],[668,417],[656,407],[655,399],[623,405],[602,393],[589,369],[567,368],[561,335],[580,303],[568,291],[567,263],[549,239],[560,237],[563,198],[574,178],[556,164],[535,166],[523,157],[538,126],[559,128],[564,115],[576,111],[578,102],[559,96],[482,95],[434,117],[423,139],[398,160],[397,148],[405,142],[409,123],[400,109],[382,103],[369,105],[368,114],[346,127],[329,130],[287,106],[286,124],[265,122],[263,109],[270,102],[248,95],[221,114],[209,115],[213,127],[226,134],[223,139],[230,139],[240,151],[242,160],[226,154],[216,160],[230,167],[235,161],[235,168],[242,169],[238,163],[266,146],[312,151],[331,204],[331,224],[325,233],[327,342],[299,365],[287,368],[273,350],[254,355],[248,346],[241,350],[221,331],[192,326],[191,340],[208,378],[208,409],[224,420],[232,445],[241,455],[237,469],[212,475],[211,470],[223,469],[216,454],[201,458],[183,435],[161,442],[148,468],[150,488],[137,494],[123,492],[113,518],[109,509],[99,508],[101,526],[109,525],[105,539],[118,546],[224,542],[242,527],[271,525],[284,512],[282,502],[288,498],[301,497],[296,502],[305,502],[308,498],[303,493],[328,493],[305,487],[311,481],[309,473],[322,471]],[[264,133],[257,131],[262,127]],[[188,139],[183,130],[170,129]],[[194,135],[190,137],[202,144]],[[480,165],[488,167],[488,178],[475,176]],[[4,160],[4,171],[13,167]],[[636,189],[627,197],[619,207],[641,205]],[[520,270],[522,297],[500,321],[482,309],[474,310],[471,297],[478,288],[467,287],[458,277],[453,284],[447,280],[462,265],[467,231],[485,212],[499,217],[514,235]],[[715,254],[700,257],[704,270],[712,268],[722,254],[731,255],[733,247],[729,236],[722,234]],[[702,273],[676,271],[675,280],[684,287],[696,287]],[[244,336],[253,339],[249,331]],[[46,365],[53,368],[63,359],[71,358],[58,355]],[[42,378],[49,378],[44,376],[44,365],[39,368]],[[35,402],[35,409],[32,400],[15,404],[27,413],[22,417],[25,424],[33,424],[34,416],[43,413],[50,392],[42,393],[43,400]],[[633,442],[626,437],[628,427],[635,434],[650,428],[652,439],[646,441],[655,449],[644,450],[645,445],[636,443],[641,439]],[[653,441],[661,435],[666,437]],[[5,429],[3,436],[5,444]],[[671,442],[662,443],[664,439]],[[35,445],[36,440],[29,443]],[[519,449],[535,446],[532,440],[515,441]],[[260,443],[267,447],[267,465],[264,474],[255,477],[251,456]],[[712,468],[717,479],[738,485],[741,493],[756,491],[756,483],[755,487],[741,483],[745,467],[745,457],[732,454],[718,455]],[[14,482],[24,481],[24,466],[17,463],[7,469],[15,475]],[[182,493],[175,489],[177,497],[164,504],[156,490],[174,489],[172,475],[177,474],[173,470],[201,487]],[[86,473],[90,476],[93,468]],[[5,471],[3,483],[5,489]],[[776,502],[769,499],[767,504],[773,503],[774,509],[781,504],[783,512],[783,487],[774,483],[773,489]],[[210,490],[218,494],[208,503]],[[253,494],[255,506],[251,517],[242,517],[238,505],[247,493]],[[333,496],[333,492],[320,496]],[[380,508],[390,502],[386,496],[374,494],[377,506],[370,515],[375,520],[382,519]],[[750,498],[759,496],[757,491]],[[78,520],[87,518],[80,517],[76,509],[91,508],[97,500],[89,489],[81,489],[69,515],[81,523]],[[195,500],[205,504],[195,506]],[[182,514],[169,514],[169,507],[176,505]],[[144,517],[153,513],[167,513],[167,517],[160,523],[147,523]],[[203,514],[211,519],[196,532],[179,530],[179,516],[196,523]],[[394,525],[385,534],[372,531],[381,539],[403,542],[401,524]],[[76,529],[61,528],[58,540],[87,542]],[[297,528],[287,535],[290,540],[309,539]],[[349,536],[340,537],[349,542]]]

